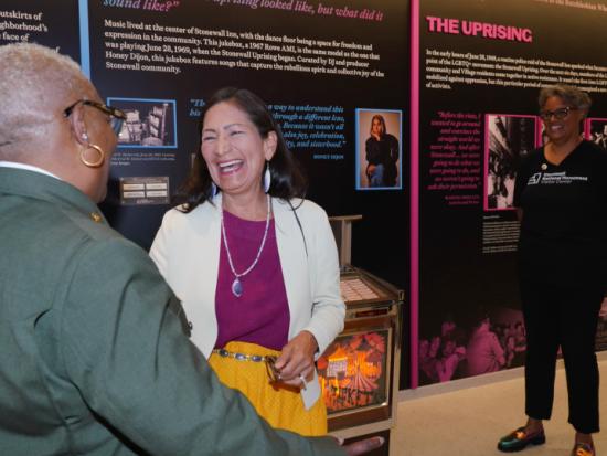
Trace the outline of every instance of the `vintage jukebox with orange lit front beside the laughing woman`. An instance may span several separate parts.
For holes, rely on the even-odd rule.
[[[329,431],[344,438],[387,432],[396,420],[404,293],[350,264],[352,222],[331,218],[345,301],[343,332],[318,359]]]

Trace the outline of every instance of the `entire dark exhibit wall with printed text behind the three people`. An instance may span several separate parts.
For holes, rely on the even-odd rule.
[[[607,0],[4,0],[0,43],[72,55],[127,113],[103,210],[143,248],[198,153],[205,99],[259,94],[308,198],[362,214],[353,265],[405,290],[403,389],[522,363],[517,167],[542,141],[546,84],[590,94],[585,134],[607,147],[606,20]],[[390,135],[382,163],[374,125]],[[503,362],[481,365],[487,317]]]

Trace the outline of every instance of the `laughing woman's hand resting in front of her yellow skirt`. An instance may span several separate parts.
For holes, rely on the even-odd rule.
[[[301,331],[283,347],[283,352],[274,364],[280,372],[280,381],[291,386],[301,386],[313,379],[315,353],[318,342],[310,331]]]

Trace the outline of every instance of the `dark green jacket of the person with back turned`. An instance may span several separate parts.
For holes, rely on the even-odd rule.
[[[0,454],[343,454],[273,431],[184,321],[146,252],[85,194],[0,167]]]

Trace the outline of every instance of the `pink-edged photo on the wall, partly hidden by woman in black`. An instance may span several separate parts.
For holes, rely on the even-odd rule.
[[[520,160],[535,147],[535,116],[488,114],[484,142],[484,210],[513,209]]]

